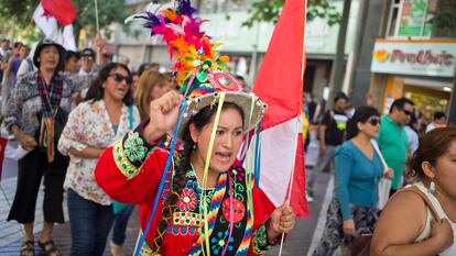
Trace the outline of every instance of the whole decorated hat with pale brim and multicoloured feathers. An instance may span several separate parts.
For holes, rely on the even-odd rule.
[[[206,105],[218,100],[218,92],[226,92],[226,100],[245,111],[245,130],[248,131],[260,122],[265,104],[253,93],[241,92],[241,87],[228,74],[228,56],[220,56],[216,48],[220,45],[202,31],[207,20],[194,16],[196,10],[189,0],[153,4],[148,11],[131,19],[145,20],[144,27],[151,36],[162,35],[167,44],[170,57],[175,59],[173,70],[181,92],[187,100],[186,122]],[[253,107],[252,107],[253,105]]]

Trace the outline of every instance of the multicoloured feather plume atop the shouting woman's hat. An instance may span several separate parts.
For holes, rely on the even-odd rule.
[[[229,58],[219,56],[215,51],[219,44],[211,43],[210,36],[200,30],[202,24],[207,20],[194,16],[196,10],[191,5],[191,1],[181,0],[176,3],[175,10],[166,8],[159,10],[158,13],[146,11],[134,18],[146,21],[144,27],[151,31],[151,36],[163,36],[163,41],[169,47],[170,57],[176,59],[173,70],[176,73],[177,84],[183,92],[195,97],[204,94],[203,91],[194,90],[199,88],[200,84],[211,79],[211,74],[227,71]],[[192,79],[192,77],[196,79]],[[191,88],[187,88],[188,85]],[[207,87],[203,87],[200,90],[214,92]]]

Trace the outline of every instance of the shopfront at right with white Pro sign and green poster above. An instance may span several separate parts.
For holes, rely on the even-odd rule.
[[[439,3],[393,0],[384,9],[383,30],[370,65],[370,91],[378,96],[383,113],[400,97],[412,99],[427,120],[435,111],[449,115],[454,111],[456,36],[436,23]]]

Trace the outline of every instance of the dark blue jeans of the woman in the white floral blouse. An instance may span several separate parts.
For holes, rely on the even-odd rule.
[[[112,207],[79,197],[68,189],[68,214],[72,232],[70,256],[101,256],[115,215]]]

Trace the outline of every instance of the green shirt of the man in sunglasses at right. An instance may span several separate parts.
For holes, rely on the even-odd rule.
[[[408,157],[409,138],[405,130],[398,126],[388,115],[383,115],[377,141],[388,167],[394,170],[391,188],[398,190]]]

